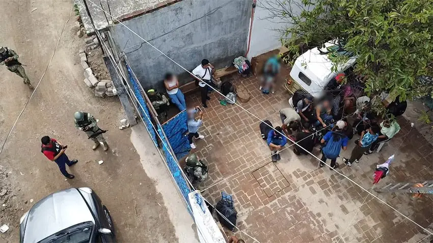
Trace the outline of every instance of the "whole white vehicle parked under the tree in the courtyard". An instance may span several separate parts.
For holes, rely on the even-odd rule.
[[[335,48],[338,48],[338,45],[330,41],[325,43],[325,47],[320,50],[322,53],[326,53]],[[328,58],[328,54],[322,53],[316,47],[296,58],[290,71],[289,80],[285,84],[285,88],[291,95],[296,90],[304,89],[305,92],[311,94],[313,97],[319,98],[323,95],[323,90],[331,79],[338,73],[342,73],[348,68],[353,67],[356,63],[356,57],[350,57],[347,63],[337,67],[337,72],[333,72],[331,71],[333,63]]]

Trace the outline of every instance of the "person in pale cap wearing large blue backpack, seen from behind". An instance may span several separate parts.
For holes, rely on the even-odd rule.
[[[327,159],[331,160],[331,168],[338,168],[337,158],[340,156],[341,148],[347,149],[347,142],[349,139],[342,131],[345,123],[342,120],[337,121],[332,131],[327,132],[320,141],[324,146],[322,147],[322,158],[320,159],[320,167],[324,166]]]

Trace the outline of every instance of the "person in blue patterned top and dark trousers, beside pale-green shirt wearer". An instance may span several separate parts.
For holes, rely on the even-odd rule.
[[[359,163],[364,152],[368,151],[371,144],[379,137],[380,128],[377,125],[372,125],[368,130],[361,133],[361,139],[352,150],[350,159],[343,158],[347,166],[352,166],[354,162]]]

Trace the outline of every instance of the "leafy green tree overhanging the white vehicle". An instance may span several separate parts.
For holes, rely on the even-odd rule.
[[[421,78],[433,76],[433,0],[267,0],[261,7],[287,23],[281,40],[291,58],[339,40],[357,56],[367,94],[433,96],[433,82]],[[329,57],[335,64],[347,59]]]

